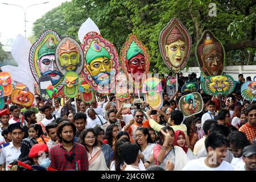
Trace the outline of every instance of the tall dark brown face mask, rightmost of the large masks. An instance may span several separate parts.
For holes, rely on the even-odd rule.
[[[225,50],[211,31],[205,30],[196,46],[196,59],[205,76],[222,75]]]

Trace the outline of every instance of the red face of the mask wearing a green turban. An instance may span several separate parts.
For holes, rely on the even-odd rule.
[[[138,55],[132,57],[130,60],[126,60],[127,71],[132,74],[142,74],[145,72],[146,61],[144,56],[139,53]]]

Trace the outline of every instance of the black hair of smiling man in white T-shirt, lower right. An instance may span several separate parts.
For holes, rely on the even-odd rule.
[[[212,147],[213,150],[215,150],[215,148],[222,147],[223,145],[225,145],[226,147],[229,146],[228,140],[226,139],[226,137],[218,132],[210,133],[208,137],[205,138],[204,144],[207,152],[208,152],[208,147]]]

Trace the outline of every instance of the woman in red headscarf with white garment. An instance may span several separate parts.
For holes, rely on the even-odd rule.
[[[179,146],[183,148],[184,152],[187,154],[189,160],[196,159],[196,156],[193,154],[193,151],[186,146],[185,134],[181,130],[175,131],[174,134],[174,146]]]

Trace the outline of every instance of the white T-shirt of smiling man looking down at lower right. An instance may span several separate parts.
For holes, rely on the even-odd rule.
[[[222,161],[218,167],[208,167],[204,163],[205,158],[190,160],[182,171],[233,171],[234,168],[228,162]]]

